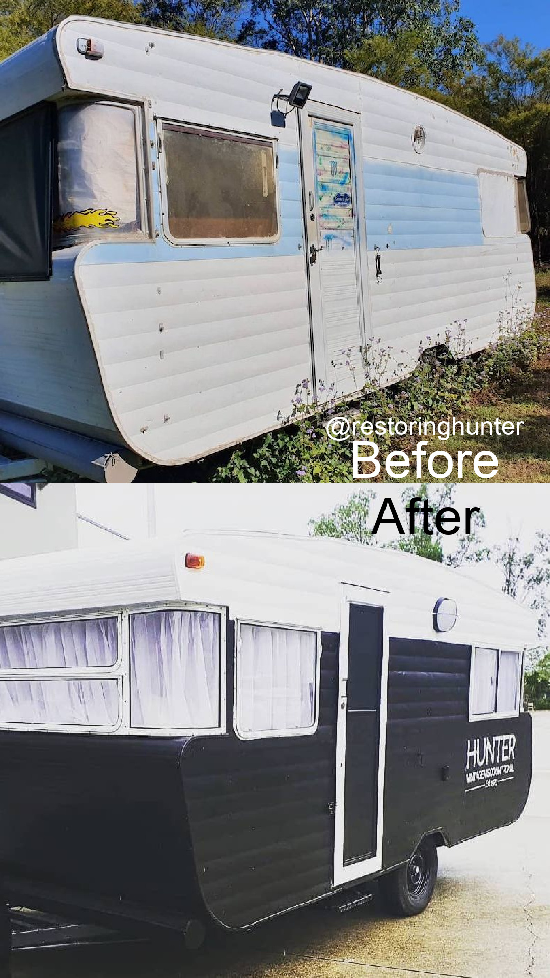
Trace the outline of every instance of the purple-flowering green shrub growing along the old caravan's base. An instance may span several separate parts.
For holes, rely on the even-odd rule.
[[[410,372],[405,354],[395,354],[380,339],[363,351],[366,382],[356,387],[351,350],[342,350],[333,368],[347,365],[354,393],[345,400],[335,396],[335,384],[319,383],[317,395],[311,382],[298,383],[289,415],[279,413],[283,427],[236,449],[227,461],[209,473],[215,482],[349,482],[352,478],[352,439],[331,441],[326,422],[344,415],[359,424],[419,417],[440,421],[457,415],[472,394],[484,388],[506,388],[527,374],[548,348],[548,337],[526,325],[527,309],[502,315],[494,340],[480,354],[472,355],[467,340],[467,321],[420,344],[418,362]],[[392,449],[389,435],[377,435],[380,453]],[[402,447],[401,445],[395,447]]]

